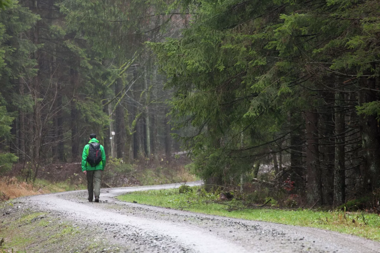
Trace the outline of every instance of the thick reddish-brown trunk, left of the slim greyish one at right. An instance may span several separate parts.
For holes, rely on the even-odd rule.
[[[306,172],[307,201],[309,204],[322,203],[322,181],[318,150],[318,114],[314,108],[305,113],[306,120]]]

